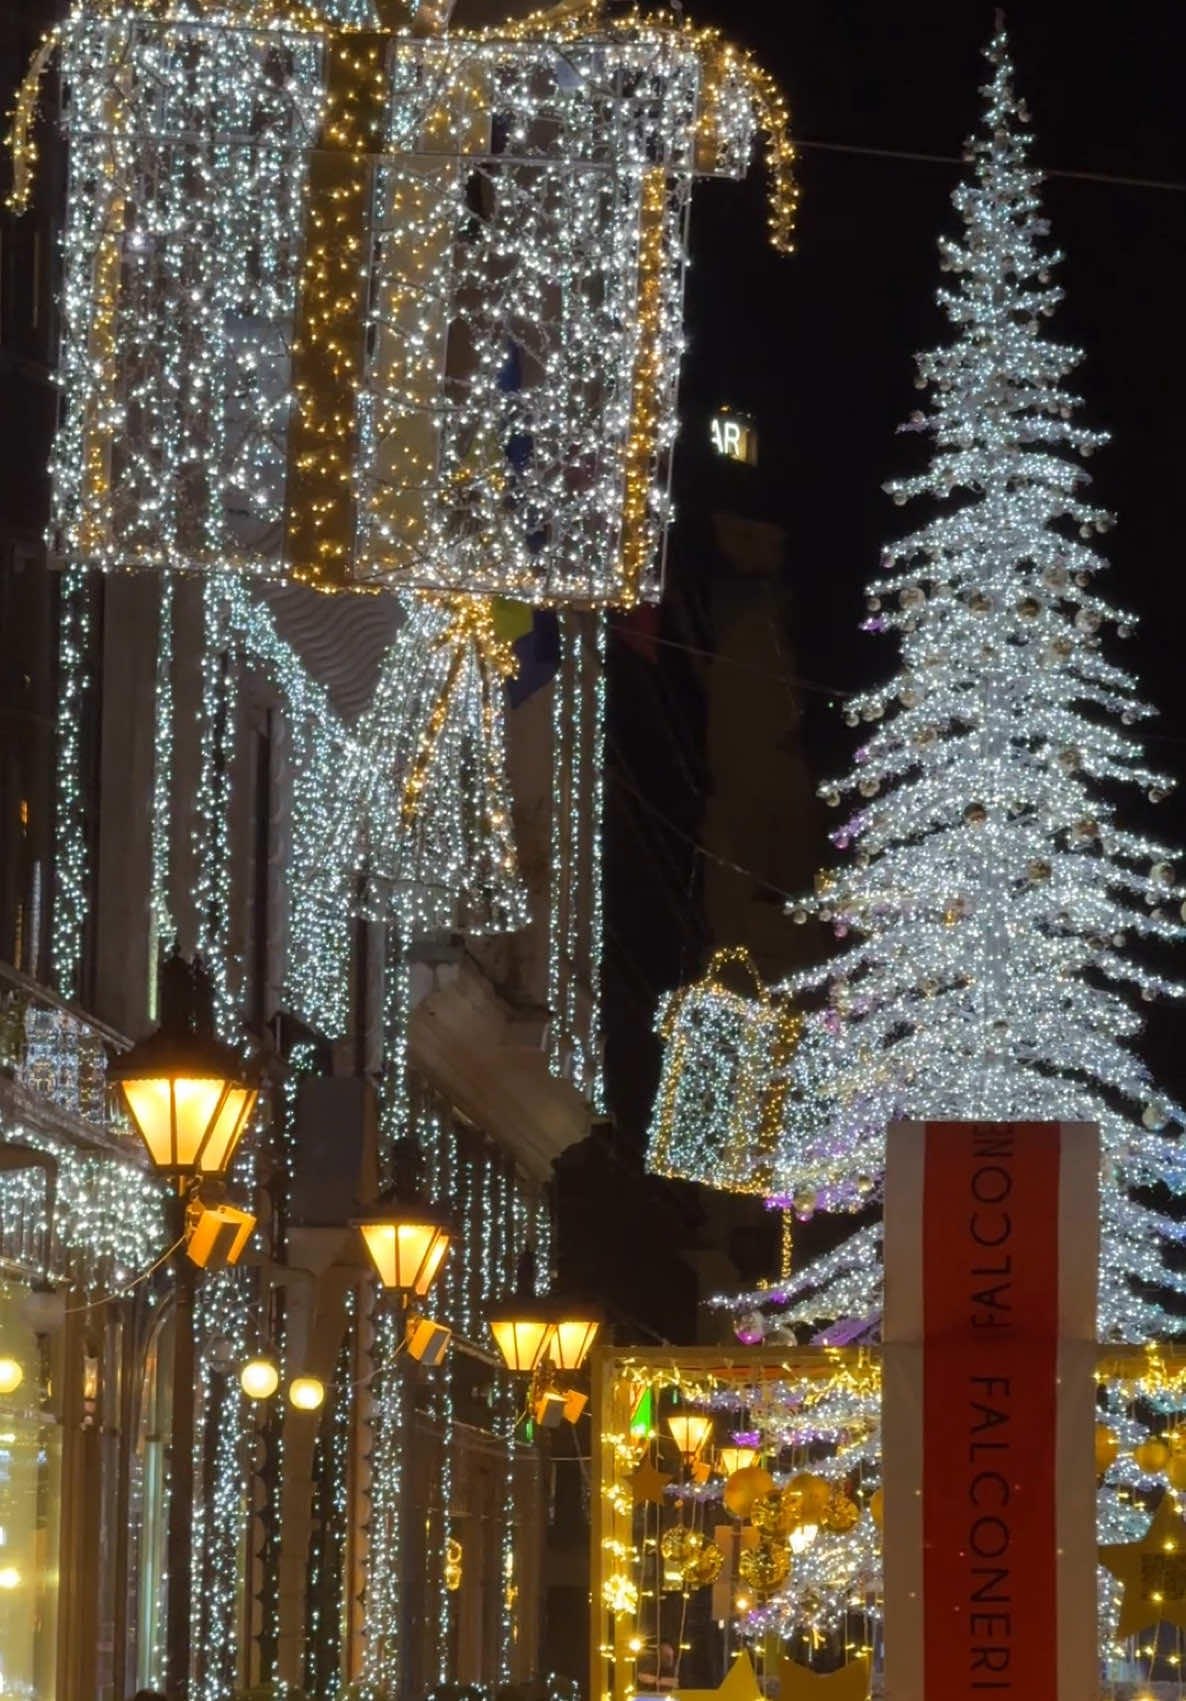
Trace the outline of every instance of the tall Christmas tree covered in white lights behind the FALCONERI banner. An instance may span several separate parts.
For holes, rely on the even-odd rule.
[[[1179,990],[1155,956],[1183,937],[1183,888],[1115,799],[1171,781],[1145,765],[1128,728],[1152,709],[1104,648],[1133,624],[1096,590],[1113,521],[1081,463],[1106,437],[1075,424],[1079,350],[1043,333],[1060,255],[1004,32],[987,56],[963,233],[939,243],[956,335],[919,357],[929,405],[905,427],[932,451],[887,486],[924,515],[885,551],[864,623],[898,634],[900,668],[849,706],[870,731],[824,796],[852,798],[832,833],[851,861],[803,907],[846,944],[798,988],[829,987],[830,1114],[854,1170],[880,1175],[893,1118],[1099,1123],[1101,1332],[1140,1339],[1167,1330],[1150,1288],[1183,1291],[1160,1255],[1181,1225],[1138,1198],[1186,1191],[1183,1112],[1130,1050],[1142,998]],[[822,1288],[801,1272],[805,1320],[876,1313],[868,1238]]]

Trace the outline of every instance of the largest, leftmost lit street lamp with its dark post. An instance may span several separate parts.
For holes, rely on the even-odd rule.
[[[191,1262],[185,1254],[191,1201],[196,1203],[202,1177],[214,1179],[226,1172],[255,1107],[257,1087],[238,1051],[214,1034],[214,1000],[206,971],[201,963],[189,964],[177,953],[160,970],[160,1027],[121,1053],[107,1073],[123,1094],[153,1169],[175,1184],[170,1213],[177,1284],[165,1689],[184,1701],[191,1664],[197,1279],[197,1260]],[[237,1240],[238,1232],[231,1238]]]

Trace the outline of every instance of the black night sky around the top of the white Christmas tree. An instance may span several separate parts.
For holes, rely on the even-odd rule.
[[[786,527],[796,667],[805,682],[851,691],[895,665],[892,640],[858,631],[863,587],[881,544],[910,519],[881,492],[926,452],[895,425],[922,400],[915,349],[946,340],[934,291],[936,236],[956,231],[949,196],[965,167],[985,80],[990,5],[873,0],[776,0],[689,7],[749,46],[779,78],[800,155],[801,218],[790,259],[764,245],[764,185],[698,185],[687,281],[689,354],[682,383],[682,476],[703,463],[706,413],[730,403],[756,415],[761,466],[738,502]],[[1067,291],[1048,335],[1075,342],[1086,361],[1072,384],[1086,418],[1113,434],[1091,461],[1096,492],[1118,515],[1104,539],[1113,572],[1101,589],[1135,609],[1143,631],[1109,651],[1135,667],[1162,711],[1150,728],[1154,760],[1183,779],[1171,803],[1126,803],[1126,820],[1186,844],[1186,589],[1179,493],[1183,478],[1181,328],[1186,301],[1186,148],[1181,80],[1186,26],[1176,3],[1089,9],[1048,0],[1009,15],[1018,92],[1035,126],[1035,163],[1048,172],[1149,179],[1172,187],[1052,175],[1045,206],[1067,260]],[[835,151],[938,155],[938,163]],[[951,163],[946,163],[951,162]],[[921,512],[921,510],[919,510]],[[672,531],[669,580],[691,568],[696,527]],[[805,742],[817,777],[847,767],[854,735],[827,691],[803,691]],[[744,752],[738,752],[744,762]],[[762,776],[752,776],[756,789]],[[818,832],[818,822],[810,823]],[[827,861],[822,835],[813,849]],[[824,941],[820,939],[820,947]],[[1177,1010],[1154,1010],[1149,1055],[1167,1060]],[[1177,1075],[1177,1082],[1174,1082]]]

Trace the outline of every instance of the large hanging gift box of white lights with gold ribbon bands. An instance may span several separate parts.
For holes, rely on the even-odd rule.
[[[786,114],[711,31],[558,7],[488,34],[279,0],[83,5],[53,527],[100,568],[655,599],[699,175]]]

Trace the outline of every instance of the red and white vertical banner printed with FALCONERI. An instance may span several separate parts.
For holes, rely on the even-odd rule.
[[[888,1701],[1094,1689],[1096,1152],[1079,1124],[892,1131]]]

